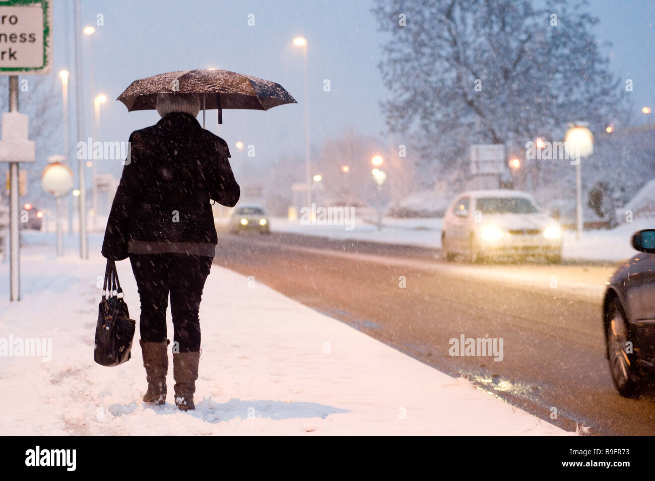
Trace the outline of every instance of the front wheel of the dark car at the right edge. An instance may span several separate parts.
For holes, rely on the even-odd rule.
[[[619,394],[626,398],[639,396],[641,376],[635,365],[635,355],[626,353],[626,343],[630,340],[626,315],[618,299],[607,308],[607,355],[612,379]]]

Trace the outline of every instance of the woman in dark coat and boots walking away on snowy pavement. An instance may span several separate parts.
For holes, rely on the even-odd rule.
[[[210,199],[232,207],[240,188],[225,141],[196,120],[197,94],[159,94],[162,119],[130,135],[102,255],[130,258],[141,301],[140,333],[148,383],[143,402],[166,402],[166,308],[173,317],[175,402],[193,410],[200,359],[198,309],[218,242]]]

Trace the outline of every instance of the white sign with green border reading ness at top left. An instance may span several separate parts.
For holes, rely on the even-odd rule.
[[[48,0],[0,1],[0,74],[47,75],[52,71]]]

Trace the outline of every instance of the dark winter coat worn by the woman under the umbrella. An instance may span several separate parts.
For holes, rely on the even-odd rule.
[[[192,115],[170,113],[130,135],[102,255],[186,252],[214,256],[218,242],[210,199],[232,207],[240,188],[225,140]]]

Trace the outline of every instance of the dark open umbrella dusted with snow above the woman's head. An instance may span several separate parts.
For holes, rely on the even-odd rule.
[[[297,104],[280,84],[229,70],[178,70],[135,80],[117,100],[128,111],[157,108],[157,94],[200,94],[204,109],[268,110]]]

